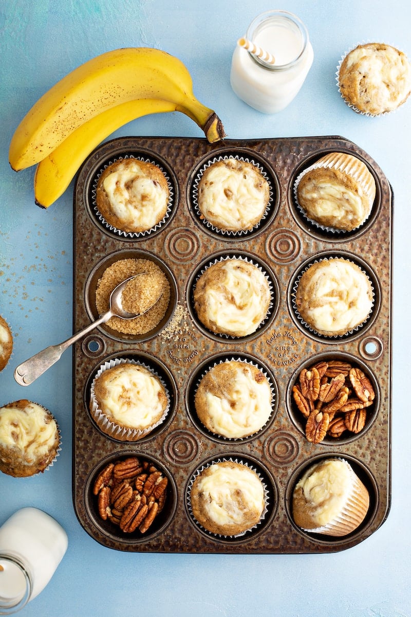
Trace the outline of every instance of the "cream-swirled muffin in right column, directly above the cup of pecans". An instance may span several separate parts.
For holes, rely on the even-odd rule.
[[[373,290],[364,271],[335,257],[312,263],[299,280],[296,308],[312,329],[343,336],[364,323],[373,305]]]

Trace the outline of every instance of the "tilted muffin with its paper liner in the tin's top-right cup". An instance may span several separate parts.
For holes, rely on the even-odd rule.
[[[330,152],[299,176],[296,197],[304,214],[319,225],[352,231],[367,220],[375,180],[367,165],[343,152]]]

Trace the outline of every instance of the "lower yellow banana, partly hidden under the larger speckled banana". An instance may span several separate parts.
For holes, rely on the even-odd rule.
[[[100,142],[120,126],[143,115],[176,111],[176,104],[161,99],[137,99],[105,110],[76,128],[36,167],[35,201],[48,208],[67,189],[80,165]]]

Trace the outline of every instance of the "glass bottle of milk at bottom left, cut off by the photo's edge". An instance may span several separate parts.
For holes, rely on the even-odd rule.
[[[0,615],[33,600],[67,550],[67,534],[51,516],[22,508],[0,527]]]

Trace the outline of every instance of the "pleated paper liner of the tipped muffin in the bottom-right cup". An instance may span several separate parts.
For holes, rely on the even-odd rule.
[[[340,460],[344,461],[343,458],[340,458]],[[346,461],[344,462],[346,463]],[[364,521],[370,505],[370,497],[364,484],[362,484],[356,473],[352,471],[350,465],[349,471],[352,478],[352,490],[340,515],[336,516],[334,520],[326,525],[312,529],[304,528],[304,531],[312,534],[340,537],[355,531],[362,521]]]

